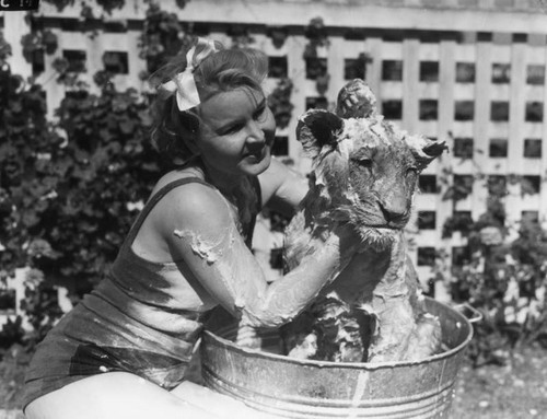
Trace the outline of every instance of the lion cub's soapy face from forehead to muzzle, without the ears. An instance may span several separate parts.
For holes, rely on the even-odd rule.
[[[410,217],[418,164],[404,133],[379,119],[348,119],[338,137],[341,152],[331,181],[345,178],[339,205],[361,229],[403,229]],[[334,190],[333,190],[334,193]],[[340,197],[342,198],[342,197]],[[345,202],[346,200],[346,202]]]

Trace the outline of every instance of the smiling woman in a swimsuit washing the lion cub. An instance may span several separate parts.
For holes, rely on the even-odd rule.
[[[207,391],[183,383],[211,310],[222,305],[244,325],[279,326],[352,256],[359,238],[340,228],[268,283],[249,249],[260,207],[290,211],[307,190],[270,155],[266,73],[263,54],[201,38],[159,73],[153,140],[174,168],[158,182],[107,278],[37,348],[27,418],[216,417],[197,406]]]

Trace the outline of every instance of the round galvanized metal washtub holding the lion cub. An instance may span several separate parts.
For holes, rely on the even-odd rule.
[[[208,330],[201,341],[205,384],[281,418],[446,418],[473,326],[446,304],[428,298],[427,307],[440,317],[450,349],[418,362],[296,360],[236,346],[233,327]]]

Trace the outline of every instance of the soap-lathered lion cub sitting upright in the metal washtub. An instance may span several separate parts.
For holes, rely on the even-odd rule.
[[[444,142],[384,120],[362,80],[338,96],[337,113],[312,109],[296,128],[313,160],[310,191],[286,231],[287,269],[321,246],[337,223],[352,225],[363,251],[305,312],[283,326],[290,357],[338,362],[418,360],[440,351],[441,326],[428,314],[406,252],[420,172]]]

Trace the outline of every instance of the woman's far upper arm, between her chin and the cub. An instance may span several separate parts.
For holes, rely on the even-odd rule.
[[[258,181],[263,205],[286,217],[294,214],[309,190],[307,178],[276,158],[272,158],[269,167],[258,175]]]

